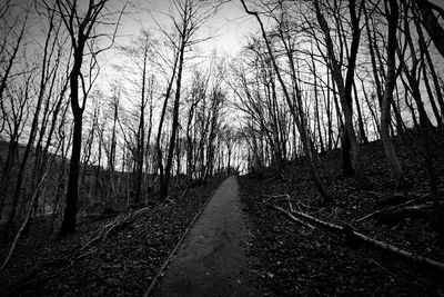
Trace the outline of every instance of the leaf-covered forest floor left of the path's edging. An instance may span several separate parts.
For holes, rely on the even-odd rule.
[[[49,220],[20,239],[0,273],[0,296],[141,296],[221,179],[172,191],[169,201],[84,219],[62,240]],[[100,218],[100,216],[99,216]],[[0,244],[0,259],[9,246]]]

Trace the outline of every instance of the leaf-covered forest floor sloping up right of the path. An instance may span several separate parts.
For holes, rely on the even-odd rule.
[[[431,148],[443,201],[443,131],[437,131]],[[372,189],[361,190],[354,179],[341,175],[341,151],[333,150],[320,159],[320,176],[334,201],[319,205],[305,161],[290,162],[283,179],[272,170],[239,179],[243,210],[250,217],[253,235],[249,255],[256,281],[268,296],[444,296],[443,274],[400,259],[393,254],[356,244],[326,228],[309,228],[270,207],[289,209],[386,241],[420,256],[444,261],[444,249],[433,224],[431,209],[421,216],[394,220],[364,218],[379,209],[397,206],[397,200],[430,200],[424,151],[418,136],[395,139],[397,156],[412,186],[395,194],[381,141],[362,146],[363,165]],[[264,202],[265,199],[265,202]],[[266,202],[268,201],[268,202]]]

